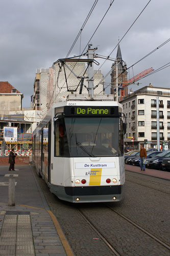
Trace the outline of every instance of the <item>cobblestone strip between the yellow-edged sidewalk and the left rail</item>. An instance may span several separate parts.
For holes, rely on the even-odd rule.
[[[51,194],[42,179],[38,178],[38,181],[76,256],[115,255],[85,222],[77,210],[77,205],[59,200],[55,195]]]

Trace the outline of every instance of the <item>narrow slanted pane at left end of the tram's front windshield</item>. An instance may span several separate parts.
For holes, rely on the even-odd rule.
[[[56,131],[55,131],[55,150],[54,156],[55,157],[69,157],[69,150],[68,150],[68,141],[66,136],[65,124],[64,120],[58,119],[56,121]]]

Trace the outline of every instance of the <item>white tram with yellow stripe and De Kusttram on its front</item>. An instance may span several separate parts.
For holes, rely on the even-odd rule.
[[[33,132],[37,174],[59,199],[115,202],[125,183],[122,105],[115,101],[53,104]]]

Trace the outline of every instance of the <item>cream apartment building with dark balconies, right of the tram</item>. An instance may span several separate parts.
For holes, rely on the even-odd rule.
[[[159,132],[162,141],[170,141],[170,89],[150,86],[143,87],[120,102],[127,117],[125,146],[138,149],[144,139],[147,148],[157,148],[156,98],[159,97]],[[134,138],[134,142],[132,138]]]

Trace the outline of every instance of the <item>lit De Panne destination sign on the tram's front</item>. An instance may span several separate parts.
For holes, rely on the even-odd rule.
[[[70,108],[71,116],[115,116],[115,114],[118,115],[118,108],[111,106],[72,106]]]

